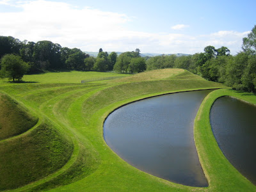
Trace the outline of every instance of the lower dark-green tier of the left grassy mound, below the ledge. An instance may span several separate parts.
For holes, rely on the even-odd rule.
[[[0,191],[56,172],[67,163],[72,150],[72,142],[48,120],[26,134],[1,141]]]

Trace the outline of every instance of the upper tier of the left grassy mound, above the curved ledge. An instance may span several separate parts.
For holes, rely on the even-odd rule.
[[[0,93],[0,140],[31,129],[38,118],[8,95]]]

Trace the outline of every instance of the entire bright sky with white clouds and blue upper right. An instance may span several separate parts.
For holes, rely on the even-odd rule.
[[[0,0],[0,36],[50,40],[82,51],[195,54],[241,51],[256,24],[255,0]]]

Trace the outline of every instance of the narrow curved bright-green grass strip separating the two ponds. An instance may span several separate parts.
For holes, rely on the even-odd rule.
[[[218,97],[225,95],[256,104],[253,93],[241,93],[231,89],[211,92],[202,102],[195,118],[194,135],[200,163],[209,182],[208,190],[256,191],[256,187],[229,163],[212,134],[209,120],[211,106]]]

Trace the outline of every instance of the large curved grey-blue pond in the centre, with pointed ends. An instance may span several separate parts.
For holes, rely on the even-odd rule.
[[[211,91],[173,93],[116,109],[104,123],[104,139],[118,156],[144,172],[188,186],[208,186],[193,123]]]

